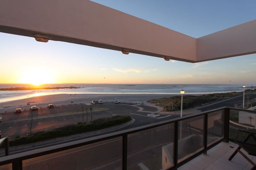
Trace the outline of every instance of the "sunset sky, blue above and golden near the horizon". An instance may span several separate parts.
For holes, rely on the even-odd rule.
[[[93,0],[198,38],[256,19],[255,0]],[[186,63],[0,33],[0,83],[256,85],[256,54]]]

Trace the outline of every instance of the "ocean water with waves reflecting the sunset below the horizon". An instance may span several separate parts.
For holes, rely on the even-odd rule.
[[[243,91],[243,85],[168,85],[168,84],[47,84],[43,87],[80,87],[78,89],[0,91],[0,102],[49,94],[208,94]],[[250,88],[251,85],[246,85]],[[255,86],[255,85],[253,85]],[[0,88],[29,87],[27,84],[0,84]]]

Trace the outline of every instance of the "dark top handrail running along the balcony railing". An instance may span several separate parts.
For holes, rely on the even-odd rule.
[[[109,134],[105,134],[105,135],[99,135],[96,137],[90,137],[90,138],[72,141],[72,142],[68,142],[68,143],[64,143],[64,144],[57,144],[57,145],[53,145],[53,146],[36,149],[36,150],[31,150],[31,151],[16,153],[13,155],[8,155],[8,156],[0,158],[0,166],[9,164],[9,163],[13,163],[15,161],[30,159],[30,158],[34,158],[34,157],[38,157],[38,156],[42,156],[42,155],[46,155],[46,154],[50,154],[50,153],[54,153],[54,152],[60,152],[63,150],[72,149],[72,148],[76,148],[79,146],[84,146],[87,144],[92,144],[92,143],[96,143],[96,142],[100,142],[100,141],[104,141],[104,140],[108,140],[108,139],[112,139],[112,138],[116,138],[116,137],[122,137],[123,135],[128,135],[128,134],[140,132],[143,130],[156,128],[156,127],[163,126],[163,125],[170,124],[170,123],[180,122],[180,121],[187,120],[187,119],[190,119],[193,117],[198,117],[201,115],[206,115],[206,114],[210,114],[210,113],[213,113],[216,111],[224,110],[226,108],[256,113],[256,111],[254,111],[254,110],[246,110],[246,109],[239,109],[239,108],[233,108],[233,107],[220,107],[217,109],[212,109],[209,111],[204,111],[204,112],[196,113],[193,115],[187,115],[187,116],[183,116],[183,117],[179,117],[179,118],[174,118],[171,120],[157,122],[154,124],[144,125],[144,126],[140,126],[137,128],[126,129],[126,130],[113,132],[113,133],[109,133]]]

